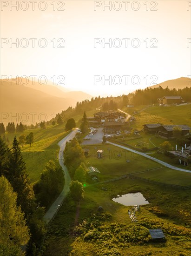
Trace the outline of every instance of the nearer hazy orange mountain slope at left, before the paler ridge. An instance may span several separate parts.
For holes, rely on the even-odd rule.
[[[0,100],[0,112],[7,113],[4,114],[4,116],[8,115],[9,117],[11,113],[12,116],[16,116],[16,113],[20,116],[22,113],[26,113],[28,120],[26,120],[26,115],[23,115],[19,120],[16,120],[16,118],[11,120],[15,123],[22,121],[26,124],[35,124],[36,122],[43,121],[44,115],[41,116],[42,120],[38,118],[40,113],[45,113],[47,120],[49,120],[54,117],[53,113],[59,113],[63,109],[76,104],[76,100],[72,98],[52,96],[40,90],[20,84],[17,85],[16,83],[10,85],[9,81],[4,82],[3,85],[0,86]],[[34,120],[30,113],[36,113]],[[7,124],[10,118],[4,120],[1,118],[1,121]]]

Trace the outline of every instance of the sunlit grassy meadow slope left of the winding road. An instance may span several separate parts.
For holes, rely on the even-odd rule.
[[[29,174],[30,181],[36,182],[40,178],[40,173],[45,168],[46,162],[49,160],[54,160],[56,164],[59,164],[57,160],[59,146],[57,143],[64,138],[68,132],[65,131],[65,125],[55,125],[48,126],[46,129],[30,129],[25,130],[23,133],[6,133],[6,138],[9,141],[13,141],[13,137],[16,136],[17,139],[21,134],[27,136],[30,132],[33,132],[34,143],[24,144],[21,147],[21,152],[23,154],[23,159],[26,162],[27,172]],[[9,143],[12,146],[12,143]]]

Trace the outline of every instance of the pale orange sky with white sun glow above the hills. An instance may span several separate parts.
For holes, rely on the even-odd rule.
[[[191,1],[0,4],[1,79],[115,96],[191,75]]]

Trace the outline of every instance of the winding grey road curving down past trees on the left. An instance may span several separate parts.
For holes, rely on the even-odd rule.
[[[60,195],[57,197],[57,199],[53,202],[53,204],[51,205],[51,207],[48,209],[48,211],[46,212],[46,214],[44,216],[44,220],[46,221],[46,223],[51,221],[52,218],[57,214],[58,209],[62,205],[66,195],[68,194],[68,192],[70,190],[71,178],[70,178],[68,170],[67,170],[67,168],[66,168],[66,166],[64,165],[64,162],[63,162],[63,151],[66,147],[66,141],[71,140],[75,136],[76,132],[77,132],[77,129],[73,130],[70,134],[68,134],[66,137],[64,137],[58,143],[59,148],[60,148],[59,149],[59,164],[60,164],[60,166],[62,167],[62,169],[64,171],[65,183],[64,183],[64,189],[62,190]]]

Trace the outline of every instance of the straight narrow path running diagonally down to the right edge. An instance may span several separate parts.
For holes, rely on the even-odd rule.
[[[126,150],[128,150],[128,151],[134,152],[134,153],[136,153],[136,154],[138,154],[138,155],[142,155],[142,156],[144,156],[144,157],[146,157],[146,158],[148,158],[148,159],[151,159],[151,160],[154,161],[154,162],[158,162],[158,163],[160,163],[160,164],[162,164],[162,165],[164,165],[164,166],[166,166],[166,167],[168,167],[168,168],[171,168],[171,169],[173,169],[173,170],[178,170],[178,171],[181,171],[181,172],[188,172],[188,173],[191,173],[191,170],[185,170],[185,169],[182,169],[182,168],[178,168],[178,167],[176,167],[176,166],[173,166],[173,165],[171,165],[171,164],[169,164],[169,163],[166,163],[166,162],[163,162],[163,161],[161,161],[161,160],[158,160],[157,158],[154,158],[154,157],[152,157],[152,156],[150,156],[150,155],[147,155],[147,154],[145,154],[145,153],[142,153],[142,152],[133,150],[133,149],[131,149],[131,148],[126,148],[126,147],[124,147],[124,146],[121,146],[121,145],[119,145],[119,144],[112,143],[112,142],[110,142],[110,141],[107,141],[107,143],[109,143],[109,144],[111,144],[111,145],[114,145],[114,146],[117,146],[117,147],[119,147],[119,148],[126,149]]]

